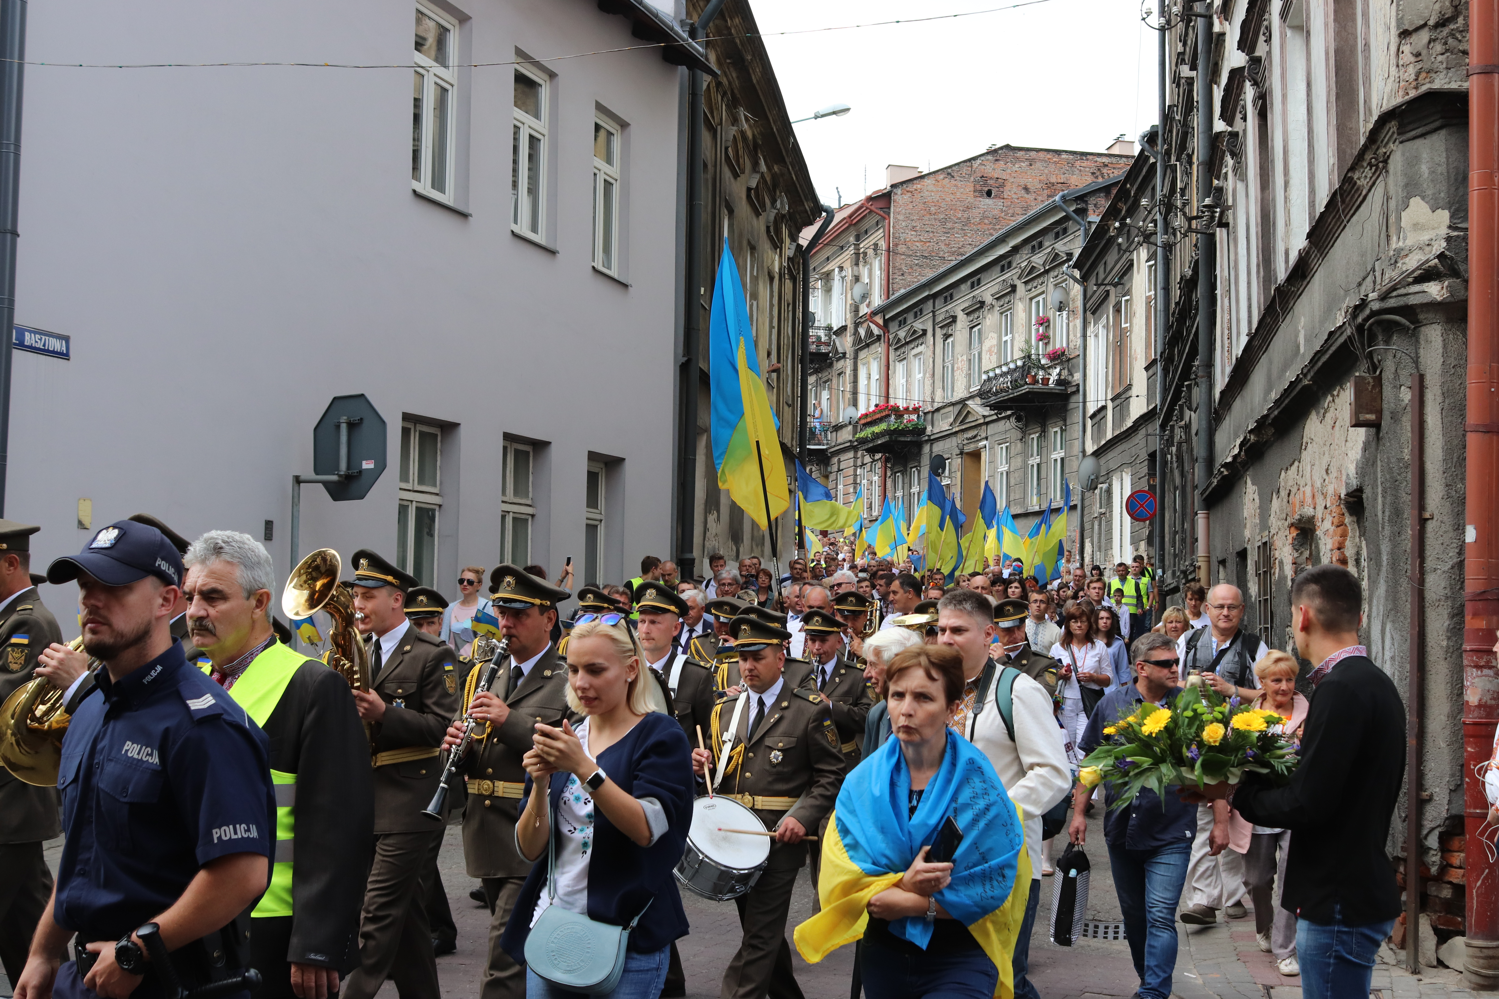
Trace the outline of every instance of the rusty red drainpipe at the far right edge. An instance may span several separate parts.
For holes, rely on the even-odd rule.
[[[1489,801],[1480,770],[1499,717],[1499,0],[1468,9],[1468,425],[1463,541],[1463,819],[1468,939],[1463,977],[1499,987],[1499,884],[1480,840]],[[1409,887],[1408,887],[1409,890]]]

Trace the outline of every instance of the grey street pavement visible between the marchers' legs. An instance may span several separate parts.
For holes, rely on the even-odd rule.
[[[1088,857],[1093,861],[1088,890],[1088,918],[1100,923],[1120,920],[1114,881],[1109,876],[1108,854],[1103,851],[1102,813],[1088,821]],[[1060,849],[1060,846],[1058,846]],[[55,870],[61,840],[48,843],[46,858]],[[456,828],[448,828],[438,860],[442,881],[453,905],[453,920],[459,929],[459,950],[438,959],[438,975],[444,999],[472,999],[478,995],[480,975],[489,948],[489,911],[469,900],[469,888],[478,882],[463,872],[463,840]],[[1124,941],[1082,939],[1076,945],[1057,947],[1048,939],[1051,923],[1052,879],[1042,879],[1040,911],[1031,938],[1031,981],[1043,999],[1127,998],[1139,984]],[[730,902],[715,903],[684,891],[684,905],[693,933],[679,942],[687,969],[687,995],[691,999],[712,999],[729,959],[739,947],[739,918]],[[803,875],[791,902],[791,929],[814,911],[811,881]],[[1285,978],[1270,954],[1255,944],[1255,920],[1231,920],[1216,926],[1187,927],[1178,924],[1181,951],[1177,957],[1175,990],[1181,999],[1301,999],[1298,978]],[[791,960],[796,980],[808,999],[842,999],[848,995],[853,971],[853,947],[833,951],[820,965],[808,965],[796,948]],[[1382,959],[1394,962],[1388,948]],[[1423,975],[1411,975],[1403,966],[1381,963],[1375,968],[1376,999],[1472,999],[1462,986],[1462,977],[1447,968],[1426,968]],[[10,987],[0,975],[0,996]],[[379,999],[397,999],[390,983]]]

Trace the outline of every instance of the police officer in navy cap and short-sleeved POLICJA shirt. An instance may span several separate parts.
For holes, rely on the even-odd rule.
[[[184,987],[226,977],[216,966],[235,968],[243,941],[231,923],[270,878],[270,740],[172,640],[183,563],[162,532],[109,524],[46,578],[78,581],[84,649],[103,666],[63,738],[66,840],[16,996],[162,996],[141,932]]]

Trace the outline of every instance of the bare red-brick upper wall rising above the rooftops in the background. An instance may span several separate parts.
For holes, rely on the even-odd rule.
[[[947,267],[1064,190],[1117,177],[1133,156],[1000,145],[890,189],[890,294]]]

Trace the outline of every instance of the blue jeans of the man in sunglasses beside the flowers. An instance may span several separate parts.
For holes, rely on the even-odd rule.
[[[1157,849],[1124,849],[1109,845],[1114,893],[1124,914],[1142,999],[1166,999],[1171,972],[1177,969],[1177,903],[1187,881],[1192,842]]]

